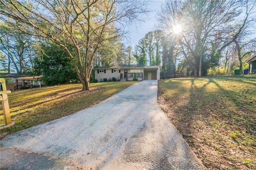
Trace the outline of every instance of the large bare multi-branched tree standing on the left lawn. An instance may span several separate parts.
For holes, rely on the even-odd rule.
[[[105,41],[124,36],[126,25],[143,20],[146,4],[137,0],[0,0],[0,19],[24,34],[60,45],[83,90],[89,90],[97,50]]]

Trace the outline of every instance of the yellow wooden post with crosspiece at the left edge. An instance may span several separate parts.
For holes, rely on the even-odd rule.
[[[5,125],[8,125],[8,124],[12,123],[10,109],[9,109],[9,103],[8,103],[8,96],[7,96],[8,93],[11,93],[11,91],[6,90],[5,79],[0,79],[0,83],[2,86],[2,89],[0,89],[0,90],[2,90],[2,91],[0,91],[0,101],[2,101]]]

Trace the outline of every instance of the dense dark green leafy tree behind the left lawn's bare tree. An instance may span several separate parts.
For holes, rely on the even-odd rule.
[[[79,81],[76,70],[64,49],[54,43],[43,45],[42,49],[44,54],[41,58],[35,58],[34,68],[36,75],[43,75],[42,79],[46,85]]]

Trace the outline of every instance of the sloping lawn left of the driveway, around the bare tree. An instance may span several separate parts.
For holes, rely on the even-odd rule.
[[[8,94],[12,126],[4,126],[0,104],[1,137],[24,128],[70,115],[104,101],[136,82],[91,83],[90,91],[81,84],[25,89]]]

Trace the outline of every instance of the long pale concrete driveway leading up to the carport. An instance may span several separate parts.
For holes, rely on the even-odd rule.
[[[6,136],[1,168],[205,169],[156,104],[157,86],[144,80],[98,105]]]

